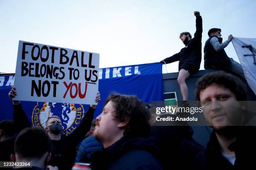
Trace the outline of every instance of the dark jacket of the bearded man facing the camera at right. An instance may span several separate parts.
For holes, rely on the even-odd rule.
[[[213,132],[206,149],[201,152],[195,161],[197,170],[254,170],[256,153],[256,128],[243,126],[238,131],[236,141],[228,148],[236,154],[234,166],[222,156],[217,136]]]

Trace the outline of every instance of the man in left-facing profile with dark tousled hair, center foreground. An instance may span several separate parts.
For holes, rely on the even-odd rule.
[[[150,113],[136,96],[108,96],[93,132],[104,149],[92,153],[95,170],[160,170],[150,135]]]

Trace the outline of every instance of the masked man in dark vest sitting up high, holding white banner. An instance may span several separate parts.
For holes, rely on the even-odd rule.
[[[220,28],[212,28],[208,31],[209,39],[206,40],[204,47],[205,69],[224,70],[245,78],[242,66],[233,58],[229,58],[224,50],[233,36],[229,35],[228,40],[222,42],[220,32]]]

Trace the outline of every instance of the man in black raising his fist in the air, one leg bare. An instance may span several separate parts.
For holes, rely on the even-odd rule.
[[[182,48],[177,54],[160,61],[166,64],[179,61],[179,76],[177,81],[183,101],[188,100],[188,87],[185,81],[192,73],[199,70],[202,60],[202,17],[198,11],[195,11],[194,15],[196,16],[197,29],[195,37],[192,38],[189,32],[180,33],[179,38],[186,47]]]

